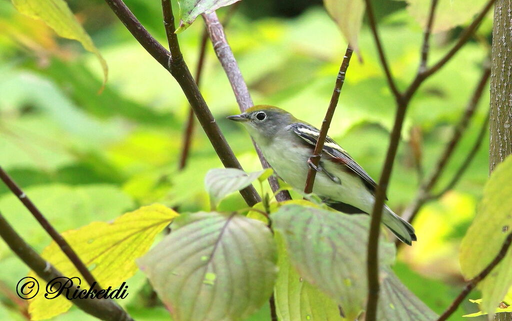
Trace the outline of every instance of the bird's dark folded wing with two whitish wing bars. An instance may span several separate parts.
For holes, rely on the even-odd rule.
[[[299,137],[304,139],[304,141],[316,146],[316,142],[318,141],[318,136],[320,134],[320,131],[317,128],[301,123],[291,124],[289,128]],[[329,154],[334,162],[346,166],[353,173],[357,174],[362,179],[362,182],[365,183],[372,192],[375,192],[377,187],[375,180],[373,180],[373,178],[370,177],[370,175],[368,175],[368,173],[365,172],[365,170],[362,169],[362,167],[360,167],[359,164],[357,164],[355,160],[329,136],[325,139],[323,152]]]

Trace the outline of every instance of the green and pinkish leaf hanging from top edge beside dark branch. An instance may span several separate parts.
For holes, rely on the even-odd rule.
[[[180,26],[176,33],[187,29],[202,13],[212,13],[215,10],[234,4],[240,0],[178,0],[180,5]]]

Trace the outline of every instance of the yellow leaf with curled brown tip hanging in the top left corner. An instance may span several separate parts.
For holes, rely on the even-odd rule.
[[[74,39],[80,42],[83,48],[94,53],[103,69],[103,84],[106,83],[109,69],[105,59],[64,0],[12,0],[12,3],[20,13],[42,20],[59,36]]]

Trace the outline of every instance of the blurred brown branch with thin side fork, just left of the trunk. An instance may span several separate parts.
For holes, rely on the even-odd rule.
[[[435,199],[437,197],[440,197],[444,192],[433,196],[431,194],[432,189],[434,188],[435,184],[438,182],[439,177],[441,176],[443,170],[446,167],[446,164],[450,160],[450,158],[453,155],[453,152],[455,151],[455,148],[457,147],[460,139],[462,138],[462,134],[466,131],[467,126],[475,114],[475,110],[478,107],[478,102],[480,101],[480,98],[482,97],[485,85],[487,84],[487,81],[490,76],[490,68],[488,64],[486,64],[486,67],[482,73],[482,76],[480,77],[480,81],[477,84],[477,87],[475,88],[475,91],[473,95],[471,96],[470,101],[467,104],[467,107],[464,111],[464,114],[461,116],[460,121],[455,125],[454,132],[452,134],[452,137],[450,138],[450,141],[446,144],[444,147],[443,152],[439,156],[439,159],[437,160],[437,164],[435,166],[434,171],[430,175],[430,177],[421,185],[418,193],[416,194],[415,199],[411,203],[411,205],[403,211],[402,217],[403,219],[407,220],[409,223],[413,221],[416,214],[418,213],[421,206],[423,206],[428,200]],[[483,134],[482,134],[483,137]],[[477,141],[478,142],[478,141]],[[478,148],[480,145],[477,144],[476,148]],[[475,147],[474,147],[475,148]],[[473,150],[471,151],[473,152]],[[469,165],[471,162],[471,154],[468,154],[469,156],[466,158],[466,161],[464,163],[467,163],[465,166]],[[453,185],[456,184],[457,180],[460,178],[460,175],[464,172],[465,167],[464,165],[459,169],[460,173],[456,174],[454,176],[455,182]],[[450,185],[448,186],[450,188]]]

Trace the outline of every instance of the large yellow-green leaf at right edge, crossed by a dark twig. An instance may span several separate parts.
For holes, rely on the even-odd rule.
[[[480,273],[498,254],[512,228],[512,157],[498,165],[485,185],[473,224],[462,239],[460,267],[464,277]],[[512,286],[512,249],[479,284],[482,310],[494,311]]]

